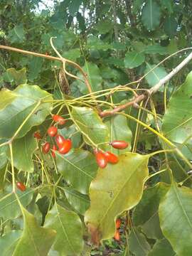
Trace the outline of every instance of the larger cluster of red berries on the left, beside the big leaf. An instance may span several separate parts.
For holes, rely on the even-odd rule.
[[[58,114],[54,114],[52,116],[53,121],[56,124],[60,124],[63,125],[65,124],[66,120],[63,117],[60,117],[60,115]],[[55,157],[55,151],[59,151],[60,154],[67,154],[70,149],[72,148],[72,142],[70,139],[65,139],[62,135],[58,134],[58,128],[55,126],[51,126],[48,128],[47,131],[48,135],[50,137],[55,137],[55,143],[52,149],[51,149],[51,154],[53,157]],[[41,139],[41,134],[39,132],[35,132],[34,133],[34,137],[36,137],[36,139]],[[50,143],[46,142],[45,144],[43,144],[42,146],[42,151],[43,154],[47,154],[50,151]]]

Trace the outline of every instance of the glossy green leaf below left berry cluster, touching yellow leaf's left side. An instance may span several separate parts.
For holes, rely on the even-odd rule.
[[[65,181],[80,193],[88,193],[90,182],[95,178],[97,164],[95,157],[82,149],[74,149],[66,155],[56,154],[58,171]]]

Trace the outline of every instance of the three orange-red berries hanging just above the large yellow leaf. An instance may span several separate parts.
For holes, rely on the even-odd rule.
[[[129,144],[124,141],[113,141],[113,142],[110,142],[110,145],[114,149],[126,149],[127,146],[129,146]],[[97,164],[100,168],[105,168],[107,166],[107,163],[117,164],[117,162],[119,161],[118,156],[116,156],[115,154],[112,154],[112,152],[110,151],[102,152],[98,149],[94,149],[94,154],[95,154]]]

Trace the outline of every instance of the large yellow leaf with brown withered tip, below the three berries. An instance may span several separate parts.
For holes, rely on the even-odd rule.
[[[142,197],[144,178],[148,176],[149,156],[124,153],[117,164],[108,164],[99,169],[90,184],[90,208],[85,213],[92,240],[112,238],[117,215],[139,203]]]

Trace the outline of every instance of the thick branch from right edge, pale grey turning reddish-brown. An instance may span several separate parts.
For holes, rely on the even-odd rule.
[[[192,53],[190,53],[178,66],[176,66],[176,68],[174,68],[168,75],[166,75],[164,78],[162,78],[156,85],[154,85],[154,87],[151,87],[150,90],[147,90],[148,95],[152,95],[155,92],[157,92],[160,87],[162,87],[166,82],[168,82],[171,78],[174,77],[174,75],[176,75],[176,73],[178,73],[179,70],[181,70],[181,68],[183,68],[186,64],[189,63],[189,61],[192,59]],[[129,106],[137,106],[137,103],[141,102],[142,100],[144,100],[144,98],[146,97],[146,94],[142,94],[139,95],[137,97],[134,97],[134,100],[125,103],[124,105],[120,105],[118,107],[115,107],[113,110],[108,110],[108,111],[102,111],[100,112],[100,117],[107,117],[109,115],[115,114],[117,112],[120,112],[122,110],[124,110],[125,108],[129,107]]]

